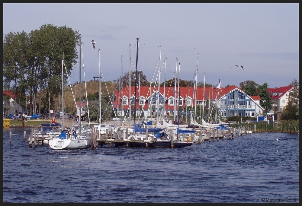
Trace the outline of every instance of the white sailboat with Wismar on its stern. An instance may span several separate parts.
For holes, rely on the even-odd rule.
[[[79,52],[79,68],[80,68],[80,82],[81,82],[81,39],[80,39],[80,52]],[[62,60],[62,85],[64,83],[64,76],[63,76],[63,60]],[[63,88],[63,86],[62,86]],[[80,83],[80,102],[81,102],[81,83]],[[62,89],[62,107],[64,108],[64,93]],[[75,130],[71,129],[64,129],[64,117],[62,118],[62,132],[59,137],[55,137],[49,140],[49,146],[52,149],[82,149],[90,147],[91,136],[81,135],[81,130],[79,130],[79,135],[76,134]],[[80,125],[81,119],[79,118]]]

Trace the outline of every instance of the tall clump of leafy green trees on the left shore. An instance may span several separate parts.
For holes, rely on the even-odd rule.
[[[78,31],[53,24],[44,24],[29,34],[23,31],[4,35],[3,81],[5,88],[10,89],[10,84],[14,85],[19,104],[26,104],[26,97],[22,94],[29,93],[33,100],[38,90],[46,89],[48,109],[54,106],[51,96],[58,96],[62,86],[61,60],[64,59],[68,72],[72,70],[78,57],[76,46],[79,37]]]

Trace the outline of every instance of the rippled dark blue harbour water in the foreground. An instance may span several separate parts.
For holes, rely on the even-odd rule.
[[[9,131],[20,134],[11,143]],[[297,134],[256,133],[173,149],[52,150],[30,148],[23,131],[3,130],[4,202],[299,202]]]

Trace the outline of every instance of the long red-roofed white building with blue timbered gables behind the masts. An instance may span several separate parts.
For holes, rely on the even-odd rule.
[[[136,115],[157,117],[162,114],[176,115],[178,105],[178,92],[174,92],[174,87],[140,87],[137,89]],[[116,91],[116,111],[119,116],[134,115],[134,93],[135,87],[130,88],[131,97],[129,98],[129,87],[124,87],[121,91]],[[120,94],[120,96],[119,96]],[[194,106],[194,87],[181,87],[179,102],[181,108],[185,106]],[[204,107],[215,104],[221,114],[222,119],[228,116],[250,116],[256,117],[256,114],[263,113],[260,105],[260,96],[249,96],[236,86],[213,89],[212,87],[197,87],[196,104]],[[129,103],[131,107],[129,108]],[[157,110],[159,108],[159,110]],[[159,111],[159,114],[157,113]]]

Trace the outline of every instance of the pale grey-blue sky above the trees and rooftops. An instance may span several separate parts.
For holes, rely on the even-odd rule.
[[[86,81],[99,75],[99,49],[102,80],[135,70],[137,38],[138,71],[148,80],[155,81],[159,65],[160,82],[165,74],[166,80],[175,78],[177,60],[180,79],[194,81],[197,68],[198,82],[216,85],[220,79],[221,87],[251,80],[276,88],[299,81],[298,3],[3,4],[3,35],[44,24],[79,30],[81,81],[84,73]],[[71,84],[76,81],[78,65],[70,77]]]

